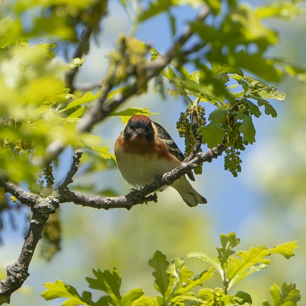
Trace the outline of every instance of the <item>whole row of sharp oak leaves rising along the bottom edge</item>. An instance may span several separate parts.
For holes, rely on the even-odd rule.
[[[227,291],[234,284],[244,277],[267,268],[271,261],[267,259],[274,253],[281,254],[289,259],[294,256],[293,249],[297,248],[296,241],[280,244],[268,249],[265,246],[250,248],[248,251],[235,252],[232,248],[240,243],[235,233],[220,235],[221,247],[217,248],[218,257],[211,258],[204,253],[192,252],[187,257],[196,257],[208,262],[211,267],[193,276],[183,261],[183,259],[173,259],[171,263],[160,251],[156,251],[148,264],[153,268],[154,288],[158,291],[156,297],[146,297],[142,289],[132,289],[128,293],[121,295],[121,277],[114,268],[112,272],[106,270],[92,270],[95,278],[86,278],[89,288],[103,291],[106,295],[99,298],[97,302],[91,299],[91,293],[84,291],[79,295],[70,285],[66,285],[60,280],[54,283],[44,284],[47,290],[42,293],[45,300],[64,297],[66,300],[63,306],[238,306],[244,303],[252,304],[252,299],[248,293],[238,291],[235,295],[228,295]],[[196,293],[192,291],[196,286],[203,286],[203,282],[213,277],[215,273],[220,274],[223,288],[202,288]],[[285,305],[285,298],[288,296],[298,296],[299,291],[294,284],[282,284],[281,289],[274,284],[270,289],[273,298],[273,306]],[[288,303],[288,302],[286,302]],[[263,302],[264,306],[269,306],[268,301]],[[287,306],[296,306],[297,299],[292,299]]]

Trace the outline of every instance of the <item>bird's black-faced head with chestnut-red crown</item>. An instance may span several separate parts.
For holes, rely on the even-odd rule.
[[[125,140],[136,140],[145,137],[148,142],[154,140],[154,129],[152,121],[144,115],[135,115],[131,117],[123,131]]]

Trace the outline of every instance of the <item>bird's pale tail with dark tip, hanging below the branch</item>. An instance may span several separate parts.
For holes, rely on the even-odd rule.
[[[207,200],[196,192],[185,176],[176,180],[171,186],[177,190],[184,202],[190,207],[197,206],[199,203],[207,203]]]

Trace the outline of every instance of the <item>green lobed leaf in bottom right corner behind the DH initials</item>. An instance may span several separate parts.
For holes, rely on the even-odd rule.
[[[273,284],[270,288],[273,306],[297,306],[300,301],[300,290],[297,290],[294,283],[282,283],[281,288]],[[266,301],[264,301],[266,302]]]

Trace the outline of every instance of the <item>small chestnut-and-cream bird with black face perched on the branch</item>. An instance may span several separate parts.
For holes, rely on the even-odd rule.
[[[152,183],[156,175],[173,170],[185,159],[169,133],[145,115],[134,115],[129,119],[115,141],[114,153],[122,177],[136,188]],[[191,171],[187,175],[195,181]],[[185,175],[170,186],[190,207],[207,203]]]

